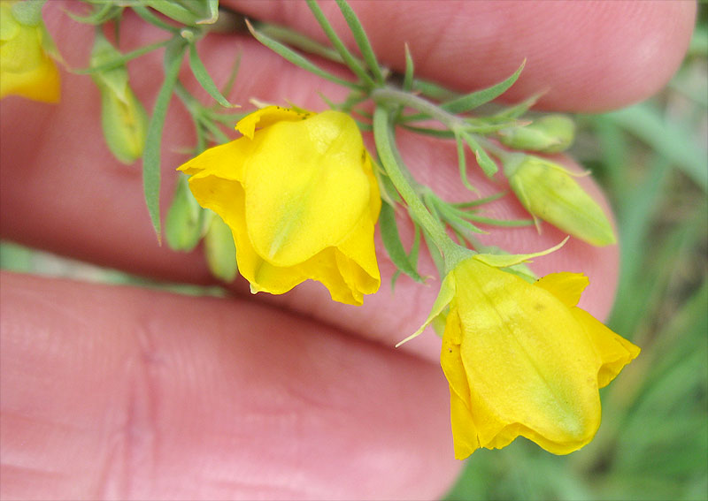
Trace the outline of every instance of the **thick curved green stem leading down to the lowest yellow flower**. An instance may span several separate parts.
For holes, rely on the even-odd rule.
[[[374,91],[375,92],[375,91]],[[427,232],[440,249],[445,258],[446,271],[450,271],[459,261],[473,251],[458,246],[450,237],[440,221],[436,220],[426,209],[415,188],[404,174],[400,161],[396,159],[394,140],[392,138],[392,111],[382,106],[376,106],[373,111],[373,138],[383,164],[383,168],[405,203],[413,219]]]

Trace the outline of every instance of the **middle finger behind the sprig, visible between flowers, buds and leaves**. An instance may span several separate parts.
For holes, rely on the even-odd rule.
[[[76,4],[47,4],[48,27],[65,54],[68,64],[81,67],[88,60],[92,31],[77,27],[62,11]],[[635,21],[633,21],[635,22]],[[123,49],[134,49],[160,39],[152,30],[135,29],[135,19],[123,23]],[[201,51],[215,80],[227,79],[237,52],[242,62],[232,101],[247,104],[250,97],[272,102],[296,102],[301,106],[322,109],[316,92],[341,98],[342,89],[299,71],[257,42],[245,36],[214,36],[201,44]],[[131,81],[137,95],[148,108],[157,93],[160,54],[136,60],[129,65]],[[273,78],[278,75],[278,78]],[[194,82],[186,79],[189,87]],[[175,102],[176,104],[176,102]],[[50,249],[90,262],[119,269],[163,277],[209,283],[199,251],[192,254],[170,252],[156,245],[147,210],[142,201],[142,178],[139,164],[124,166],[112,159],[96,126],[98,95],[90,80],[81,75],[64,73],[64,95],[58,106],[7,98],[0,107],[0,126],[4,138],[12,137],[0,149],[0,229],[4,238]],[[86,117],[76,120],[77,116]],[[175,167],[187,156],[179,153],[193,141],[189,118],[179,105],[174,105],[165,125],[163,148],[163,214],[170,198]],[[469,198],[459,186],[454,147],[440,141],[415,140],[402,136],[403,154],[412,171],[450,200]],[[11,168],[12,167],[12,168]],[[477,172],[471,169],[471,173]],[[504,189],[503,183],[477,179],[482,194]],[[581,178],[601,198],[589,178]],[[526,216],[511,197],[497,202],[491,210],[496,215]],[[551,247],[565,235],[544,225],[539,237],[533,228],[499,230],[485,241],[511,252],[534,252]],[[381,247],[381,246],[380,246]],[[327,291],[319,284],[307,282],[289,294],[257,298],[281,304],[345,330],[357,326],[358,333],[393,345],[415,330],[427,316],[437,293],[438,282],[427,286],[412,283],[406,277],[396,285],[396,296],[390,292],[393,271],[388,259],[380,254],[381,291],[366,298],[364,307],[348,307],[328,300]],[[617,277],[617,248],[595,248],[571,240],[564,249],[538,259],[532,265],[536,272],[577,271],[591,280],[583,295],[582,307],[598,318],[604,318],[612,306]],[[423,271],[434,275],[429,262]],[[247,285],[238,279],[236,292],[248,295]],[[402,305],[403,308],[402,309]],[[421,336],[403,346],[434,361],[439,340]]]

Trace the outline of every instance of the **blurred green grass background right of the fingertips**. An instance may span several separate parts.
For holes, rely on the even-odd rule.
[[[447,499],[708,498],[706,7],[666,89],[580,117],[571,150],[618,219],[620,288],[608,326],[642,355],[604,390],[594,442],[568,457],[523,440],[480,450]]]

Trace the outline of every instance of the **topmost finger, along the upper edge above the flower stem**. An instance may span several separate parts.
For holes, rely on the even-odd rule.
[[[237,11],[326,40],[304,2],[227,0]],[[354,47],[334,2],[322,2]],[[471,91],[527,65],[507,99],[547,91],[552,110],[610,110],[640,101],[681,64],[694,2],[352,2],[386,65],[404,70],[408,43],[420,77]]]

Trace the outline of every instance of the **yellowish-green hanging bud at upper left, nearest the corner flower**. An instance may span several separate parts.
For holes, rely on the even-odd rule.
[[[96,32],[91,66],[106,65],[120,56],[119,50]],[[128,84],[126,66],[93,72],[91,77],[101,93],[101,125],[108,148],[120,162],[135,162],[145,146],[148,115]]]

